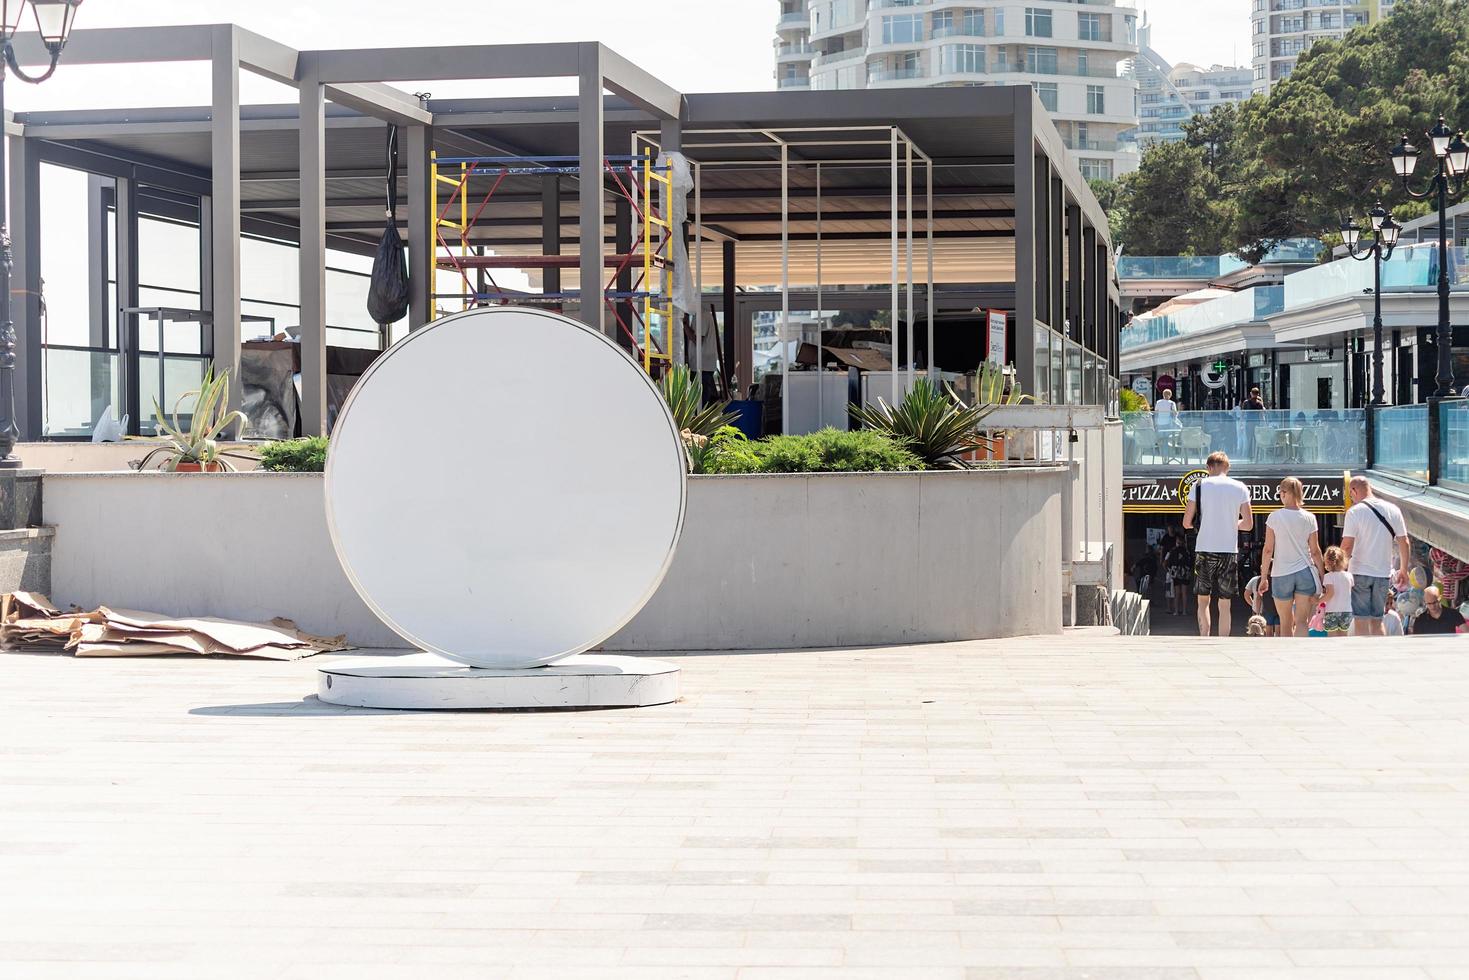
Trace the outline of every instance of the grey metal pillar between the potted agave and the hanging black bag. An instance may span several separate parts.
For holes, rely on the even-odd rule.
[[[301,96],[301,435],[326,435],[326,93]]]

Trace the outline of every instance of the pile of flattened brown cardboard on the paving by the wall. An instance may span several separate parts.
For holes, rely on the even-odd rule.
[[[76,657],[144,657],[154,654],[223,654],[298,660],[347,649],[347,636],[313,636],[286,619],[269,624],[216,617],[170,619],[162,613],[73,608],[63,613],[37,592],[0,597],[0,646],[26,651],[72,651]]]

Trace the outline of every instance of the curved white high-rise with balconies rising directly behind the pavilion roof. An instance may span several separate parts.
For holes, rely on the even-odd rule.
[[[1137,167],[1131,0],[780,0],[782,88],[1030,82],[1087,178]]]

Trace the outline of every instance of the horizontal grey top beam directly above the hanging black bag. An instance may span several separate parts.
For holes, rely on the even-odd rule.
[[[433,82],[458,78],[571,78],[579,73],[576,43],[372,47],[307,51],[325,84]]]

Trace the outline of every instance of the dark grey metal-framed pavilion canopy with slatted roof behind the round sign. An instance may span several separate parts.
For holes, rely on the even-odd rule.
[[[18,38],[16,51],[22,63],[47,57],[34,35]],[[643,145],[682,153],[698,167],[683,234],[704,289],[698,316],[707,319],[710,306],[721,310],[727,363],[751,360],[748,326],[736,322],[742,311],[774,309],[777,298],[784,329],[790,310],[864,304],[889,314],[898,309],[898,319],[912,325],[928,310],[942,322],[946,313],[984,309],[1008,314],[1009,360],[1027,391],[1068,404],[1114,397],[1118,287],[1106,217],[1028,85],[680,94],[596,43],[297,51],[234,25],[79,31],[66,59],[209,62],[212,104],[10,120],[16,287],[25,289],[16,391],[26,438],[44,432],[48,370],[40,241],[51,222],[41,167],[84,170],[115,188],[116,228],[101,210],[87,253],[88,276],[100,285],[85,351],[97,359],[137,356],[116,347],[126,332],[110,325],[118,310],[140,306],[140,213],[162,209],[163,198],[192,203],[203,251],[198,303],[210,314],[216,361],[237,379],[237,404],[241,237],[297,247],[301,428],[325,432],[326,256],[366,256],[376,245],[386,125],[401,129],[404,166],[392,190],[411,267],[422,270],[410,278],[408,329],[433,314],[426,267],[438,219],[435,154],[538,160],[536,172],[507,173],[455,242],[483,266],[464,269],[488,276],[497,263],[526,262],[529,295],[486,292],[561,306],[632,348],[629,334],[638,331],[621,323],[635,319],[635,301],[618,295],[639,288],[636,270],[620,266],[636,254],[642,215],[638,192],[623,194],[608,170],[626,148]],[[295,87],[297,104],[241,106],[241,69]],[[523,78],[574,78],[577,94],[420,100],[394,87]],[[476,206],[495,176],[486,169],[466,182]],[[909,234],[914,264],[925,270],[931,251],[931,273],[909,275]],[[109,298],[109,262],[116,300]],[[580,301],[582,284],[605,288],[605,301]],[[564,303],[539,298],[555,294]],[[693,354],[707,332],[714,336],[692,332]],[[670,331],[667,345],[682,336]]]

